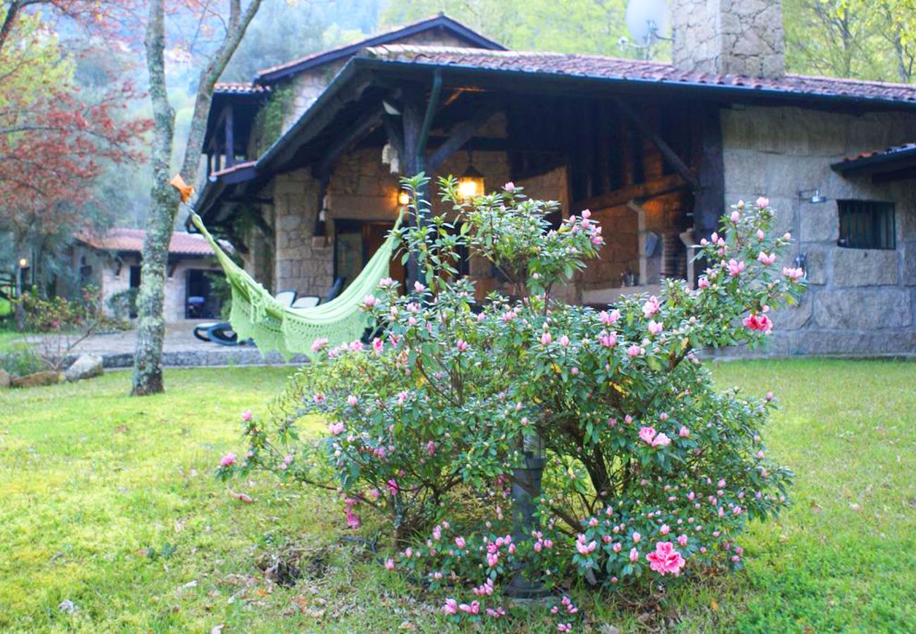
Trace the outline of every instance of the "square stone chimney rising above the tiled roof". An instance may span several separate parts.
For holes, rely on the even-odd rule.
[[[672,0],[671,56],[681,71],[785,74],[780,0]]]

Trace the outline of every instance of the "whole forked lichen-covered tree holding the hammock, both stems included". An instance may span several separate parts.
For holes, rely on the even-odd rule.
[[[245,7],[242,0],[227,3],[187,3],[200,16],[200,27],[190,41],[189,49],[201,34],[216,40],[200,71],[194,97],[191,122],[188,128],[184,157],[180,173],[189,182],[197,178],[201,163],[203,137],[207,115],[213,101],[213,85],[219,79],[238,48],[245,29],[260,8],[261,0],[250,0]],[[150,159],[153,168],[152,203],[147,217],[147,237],[143,246],[143,268],[140,274],[140,291],[137,297],[139,321],[136,330],[134,356],[134,382],[132,394],[142,396],[164,390],[162,381],[162,341],[165,336],[165,319],[162,314],[165,301],[166,264],[169,257],[169,240],[179,197],[169,186],[172,150],[175,141],[175,111],[169,103],[166,81],[166,0],[149,0],[144,47],[149,73],[149,95],[153,105],[153,144]]]

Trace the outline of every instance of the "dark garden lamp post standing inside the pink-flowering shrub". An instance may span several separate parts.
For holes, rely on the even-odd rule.
[[[540,496],[540,479],[544,474],[544,441],[538,432],[522,436],[525,464],[512,474],[512,539],[517,543],[529,541],[535,529],[534,500]],[[517,599],[537,599],[549,591],[539,581],[531,581],[520,570],[507,586],[508,596]]]

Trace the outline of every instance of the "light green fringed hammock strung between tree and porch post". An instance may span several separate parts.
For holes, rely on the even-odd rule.
[[[236,265],[203,226],[200,216],[191,213],[191,222],[213,247],[229,281],[232,289],[229,322],[239,340],[252,339],[262,355],[276,350],[286,359],[297,354],[314,357],[311,344],[319,337],[326,338],[329,345],[337,345],[363,336],[370,322],[360,305],[366,295],[377,289],[378,282],[387,277],[397,242],[394,235],[388,235],[356,279],[332,301],[313,308],[296,309],[279,303]],[[399,224],[400,219],[395,227]]]

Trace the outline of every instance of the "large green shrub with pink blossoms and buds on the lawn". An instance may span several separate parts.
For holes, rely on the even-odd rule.
[[[703,240],[697,289],[667,279],[659,297],[596,311],[551,299],[603,244],[590,213],[554,231],[551,203],[511,183],[471,203],[451,180],[442,190],[461,224],[415,202],[421,222],[401,232],[423,282],[386,279],[365,298],[379,325],[371,344],[316,341],[320,359],[273,416],[246,413],[249,449],[220,473],[267,469],[330,488],[352,529],[384,520],[387,567],[450,588],[442,609],[454,619],[504,617],[502,588],[518,578],[551,586],[578,571],[619,587],[740,566],[736,539],[780,510],[791,474],[759,435],[771,396],[715,390],[695,353],[759,344],[771,310],[802,291],[799,271],[775,266],[791,236],[767,235],[769,202],[739,202]],[[499,267],[514,299],[475,305],[473,283],[455,276],[459,248]],[[318,441],[300,439],[305,414],[328,423]],[[527,520],[510,491],[541,446]],[[576,612],[568,598],[555,606],[558,627]]]

